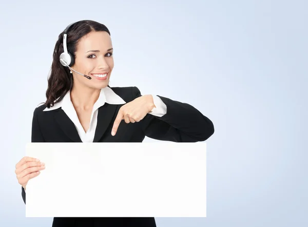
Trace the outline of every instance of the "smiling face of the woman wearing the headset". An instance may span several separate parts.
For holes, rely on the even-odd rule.
[[[112,52],[111,37],[106,31],[93,31],[82,37],[76,46],[75,64],[71,68],[92,79],[72,71],[74,83],[95,89],[107,87],[113,69]]]

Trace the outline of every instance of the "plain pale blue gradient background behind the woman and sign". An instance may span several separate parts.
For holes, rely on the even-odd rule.
[[[15,164],[45,101],[57,36],[79,20],[111,31],[111,86],[187,102],[211,119],[207,217],[167,226],[307,226],[306,1],[5,1],[1,21],[0,226],[25,218]],[[151,141],[146,139],[146,141]]]

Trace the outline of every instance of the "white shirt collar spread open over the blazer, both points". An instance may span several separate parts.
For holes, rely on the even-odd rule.
[[[101,89],[99,99],[94,103],[93,110],[100,108],[105,103],[119,105],[119,104],[125,104],[126,102],[118,96],[110,87],[105,87]],[[50,111],[54,109],[67,108],[71,107],[71,99],[70,99],[70,91],[68,91],[64,98],[60,102],[56,102],[53,106],[50,108],[45,108],[43,111]]]

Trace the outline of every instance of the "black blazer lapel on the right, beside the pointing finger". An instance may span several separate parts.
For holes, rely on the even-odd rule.
[[[98,112],[98,124],[95,129],[95,135],[93,142],[99,142],[99,140],[104,135],[110,124],[113,125],[112,118],[115,115],[115,110],[117,110],[118,105],[112,105],[105,103],[103,106],[99,108]],[[111,127],[112,127],[111,125]]]

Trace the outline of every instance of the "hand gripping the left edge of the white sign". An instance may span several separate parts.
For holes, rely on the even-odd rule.
[[[28,181],[38,176],[41,170],[45,169],[45,163],[40,160],[24,157],[15,166],[15,174],[20,183],[25,189]]]

